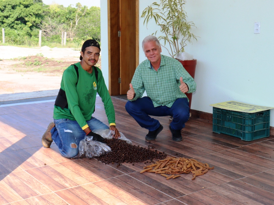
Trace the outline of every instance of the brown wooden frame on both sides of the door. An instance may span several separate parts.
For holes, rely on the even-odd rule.
[[[136,29],[136,67],[139,65],[139,0],[135,3],[135,29]],[[107,31],[108,31],[108,81],[109,94],[120,95],[120,30],[119,0],[107,1]]]

